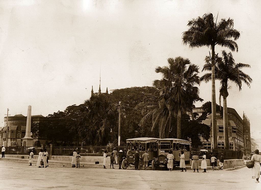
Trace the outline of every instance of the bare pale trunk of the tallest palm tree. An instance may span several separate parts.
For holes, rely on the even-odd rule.
[[[217,115],[216,115],[216,87],[215,87],[215,45],[211,45],[211,110],[212,110],[212,146],[217,148]]]

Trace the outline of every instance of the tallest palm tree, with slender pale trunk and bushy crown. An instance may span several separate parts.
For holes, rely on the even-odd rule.
[[[212,144],[217,148],[217,118],[216,118],[216,91],[215,91],[215,45],[227,47],[232,51],[238,51],[235,40],[240,37],[235,30],[233,19],[221,19],[218,24],[214,22],[212,13],[206,13],[202,17],[188,21],[189,29],[182,34],[184,44],[191,48],[210,47],[211,55],[211,103],[212,103]]]

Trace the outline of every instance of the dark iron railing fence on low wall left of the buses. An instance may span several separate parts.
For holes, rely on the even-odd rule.
[[[124,150],[126,146],[116,146],[116,147],[108,147],[108,146],[82,146],[82,147],[54,147],[54,152],[52,155],[54,156],[72,156],[73,150],[76,152],[80,152],[81,156],[103,156],[104,150],[107,150],[107,154],[111,154],[113,148],[116,148],[117,151]]]

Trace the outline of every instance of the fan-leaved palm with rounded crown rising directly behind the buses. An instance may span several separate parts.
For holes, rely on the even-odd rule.
[[[168,66],[157,67],[156,73],[162,74],[161,80],[155,80],[153,86],[161,91],[161,100],[173,116],[177,114],[177,138],[181,139],[181,112],[188,111],[195,101],[200,100],[200,84],[198,66],[191,64],[189,59],[176,57],[168,59]]]

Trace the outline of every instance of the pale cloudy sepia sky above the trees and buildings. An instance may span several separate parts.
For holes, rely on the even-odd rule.
[[[229,84],[228,107],[250,119],[261,138],[261,2],[257,1],[34,1],[0,2],[0,126],[4,114],[63,111],[101,90],[151,86],[157,66],[182,56],[200,67],[209,48],[182,44],[187,22],[211,12],[233,18],[240,31],[235,62],[250,64],[251,88]],[[219,13],[218,13],[219,12]],[[216,46],[216,53],[221,55]],[[202,73],[200,73],[200,76]],[[218,103],[219,82],[216,81]],[[211,101],[211,83],[199,87]],[[119,100],[120,101],[120,100]],[[203,102],[203,103],[204,103]],[[201,106],[202,103],[196,103]]]

